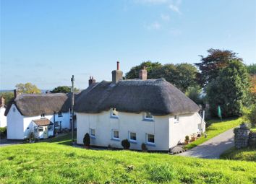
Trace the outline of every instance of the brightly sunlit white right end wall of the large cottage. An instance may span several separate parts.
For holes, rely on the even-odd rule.
[[[197,113],[179,115],[179,123],[175,123],[174,116],[170,116],[169,147],[171,148],[179,144],[179,142],[184,142],[185,136],[191,136],[192,133],[202,131],[201,123],[205,126],[204,121],[202,121]]]

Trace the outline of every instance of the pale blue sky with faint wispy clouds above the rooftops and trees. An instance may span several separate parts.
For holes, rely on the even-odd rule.
[[[209,48],[256,63],[256,1],[1,0],[0,89],[111,80],[142,61],[195,63]]]

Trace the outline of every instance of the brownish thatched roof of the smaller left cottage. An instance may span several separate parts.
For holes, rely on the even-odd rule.
[[[71,95],[64,93],[18,95],[9,103],[4,115],[8,114],[12,104],[16,105],[20,113],[25,116],[65,113],[71,108]]]

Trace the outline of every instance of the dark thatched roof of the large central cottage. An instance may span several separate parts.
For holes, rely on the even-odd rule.
[[[165,79],[100,82],[80,93],[74,105],[77,113],[101,113],[116,108],[121,112],[150,112],[153,115],[186,114],[198,105]]]

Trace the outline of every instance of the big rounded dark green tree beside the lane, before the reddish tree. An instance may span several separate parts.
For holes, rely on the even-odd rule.
[[[218,105],[223,117],[242,115],[249,94],[248,74],[240,61],[230,61],[206,87],[210,112],[216,115]]]

